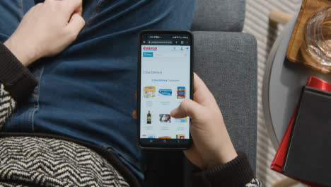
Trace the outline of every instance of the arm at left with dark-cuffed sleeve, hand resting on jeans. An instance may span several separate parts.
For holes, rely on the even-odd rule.
[[[82,1],[46,0],[30,8],[6,42],[0,42],[0,129],[37,86],[28,66],[57,55],[76,40],[85,25]],[[60,38],[60,39],[59,39]]]

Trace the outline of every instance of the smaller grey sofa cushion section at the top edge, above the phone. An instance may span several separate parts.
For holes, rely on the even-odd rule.
[[[243,30],[245,0],[197,0],[191,30]]]

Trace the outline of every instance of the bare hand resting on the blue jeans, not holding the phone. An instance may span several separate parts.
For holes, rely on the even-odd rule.
[[[62,52],[76,40],[85,21],[82,0],[46,0],[30,8],[4,45],[27,67]]]

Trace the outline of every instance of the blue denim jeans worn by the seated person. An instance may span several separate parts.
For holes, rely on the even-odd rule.
[[[0,1],[1,42],[32,6],[33,0]],[[195,0],[83,0],[85,28],[64,52],[30,67],[39,84],[3,130],[92,142],[114,152],[142,180],[131,115],[136,108],[137,34],[144,29],[189,30],[194,8]]]

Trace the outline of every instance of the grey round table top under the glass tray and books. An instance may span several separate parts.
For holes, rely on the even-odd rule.
[[[286,24],[277,38],[266,62],[265,77],[262,88],[262,105],[265,123],[275,149],[289,125],[291,116],[298,103],[302,87],[308,77],[315,76],[331,82],[330,74],[323,74],[313,69],[289,62],[286,50],[296,23],[296,17]]]

